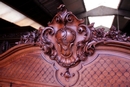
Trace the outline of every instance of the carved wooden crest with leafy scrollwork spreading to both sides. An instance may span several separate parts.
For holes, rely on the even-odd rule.
[[[99,43],[105,44],[109,40],[130,42],[130,36],[122,35],[114,26],[108,32],[103,28],[95,29],[93,23],[88,26],[83,24],[84,20],[67,11],[65,5],[60,5],[58,9],[48,27],[22,36],[19,44],[39,44],[50,59],[70,68],[92,55]]]

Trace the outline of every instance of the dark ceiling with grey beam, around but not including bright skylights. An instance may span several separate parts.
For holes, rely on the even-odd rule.
[[[91,16],[115,15],[112,25],[130,35],[130,0],[121,0],[118,9],[100,6],[90,11],[86,11],[83,0],[2,0],[2,2],[42,26],[47,26],[47,23],[57,13],[57,7],[60,4],[65,4],[66,8],[72,11],[78,18],[85,19],[86,24],[89,24],[88,17]],[[100,9],[102,9],[102,12],[99,12]],[[107,21],[104,20],[104,22]],[[1,18],[0,23],[0,31],[2,29],[19,27]]]

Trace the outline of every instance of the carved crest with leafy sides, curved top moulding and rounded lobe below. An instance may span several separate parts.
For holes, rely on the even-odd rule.
[[[82,68],[82,62],[93,57],[96,50],[100,48],[102,50],[109,48],[110,51],[120,51],[121,48],[120,52],[130,50],[130,36],[122,34],[114,26],[107,32],[104,28],[96,29],[94,23],[83,24],[84,21],[67,11],[65,5],[60,5],[58,9],[59,12],[47,27],[40,27],[38,31],[21,36],[18,44],[22,45],[10,49],[2,55],[2,58],[8,53],[15,53],[25,47],[38,46],[40,52],[43,51],[45,60],[54,62],[52,65],[56,69],[55,75],[58,82],[62,86],[65,82],[65,86],[70,87],[79,79],[78,70]]]

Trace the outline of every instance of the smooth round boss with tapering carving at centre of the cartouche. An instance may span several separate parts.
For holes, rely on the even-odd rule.
[[[75,41],[76,34],[72,29],[60,29],[56,33],[57,43],[60,45],[62,56],[69,57],[72,55],[72,45]]]

